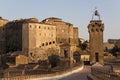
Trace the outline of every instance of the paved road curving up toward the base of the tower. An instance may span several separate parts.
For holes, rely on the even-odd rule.
[[[88,80],[87,75],[90,73],[90,66],[85,66],[80,72],[66,76],[60,80]]]

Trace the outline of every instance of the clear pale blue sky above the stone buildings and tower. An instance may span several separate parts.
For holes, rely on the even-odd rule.
[[[120,0],[0,0],[4,19],[61,18],[79,28],[79,37],[89,40],[88,24],[97,7],[105,25],[104,41],[120,39]]]

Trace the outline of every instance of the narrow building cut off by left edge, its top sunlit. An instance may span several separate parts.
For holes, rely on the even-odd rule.
[[[8,20],[0,17],[0,53],[5,53],[5,24],[8,23]]]

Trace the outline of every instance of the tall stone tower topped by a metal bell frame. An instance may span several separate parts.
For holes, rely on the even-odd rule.
[[[104,49],[103,49],[103,31],[104,24],[102,20],[100,20],[100,16],[95,11],[94,16],[98,16],[98,20],[91,20],[88,25],[89,31],[89,42],[90,42],[90,63],[94,64],[99,62],[100,64],[104,64]]]

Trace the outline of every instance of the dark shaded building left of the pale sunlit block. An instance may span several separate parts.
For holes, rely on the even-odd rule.
[[[9,21],[5,25],[6,53],[22,51],[22,25],[25,22],[37,22],[36,18]]]

